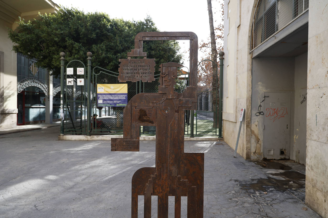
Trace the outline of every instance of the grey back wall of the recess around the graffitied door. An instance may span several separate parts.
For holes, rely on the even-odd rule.
[[[264,130],[263,119],[266,115],[264,104],[266,103],[265,101],[268,101],[268,98],[264,98],[264,94],[265,92],[293,93],[295,72],[294,66],[295,58],[293,57],[254,58],[252,61],[252,159],[263,158],[263,152],[266,152],[263,150],[263,132],[270,131],[269,125],[267,125]],[[267,95],[270,96],[270,94]],[[294,101],[291,101],[292,108],[294,108],[293,105]],[[293,114],[293,109],[288,110],[290,114]],[[291,120],[291,122],[293,122],[293,120]],[[273,149],[277,151],[277,149],[279,149],[279,145]],[[287,149],[287,157],[289,157],[289,151],[290,149]]]

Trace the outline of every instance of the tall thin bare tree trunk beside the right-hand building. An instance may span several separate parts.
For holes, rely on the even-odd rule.
[[[213,68],[213,81],[212,81],[212,91],[213,91],[213,111],[214,116],[213,119],[215,122],[213,123],[213,127],[217,126],[218,121],[218,106],[217,106],[217,97],[218,97],[218,86],[217,86],[217,51],[216,51],[216,42],[215,42],[215,33],[214,33],[214,24],[213,24],[213,13],[212,13],[212,2],[211,0],[207,0],[207,10],[208,10],[208,17],[210,21],[210,35],[211,35],[211,50],[212,55],[211,59],[212,68]],[[216,112],[216,113],[215,113]],[[216,116],[215,116],[216,114]],[[216,119],[215,119],[216,117]]]

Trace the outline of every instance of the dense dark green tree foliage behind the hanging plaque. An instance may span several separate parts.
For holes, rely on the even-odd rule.
[[[15,31],[9,30],[9,38],[15,44],[13,50],[28,58],[37,59],[39,67],[60,75],[59,53],[66,53],[66,60],[85,60],[92,52],[92,65],[117,72],[118,59],[127,58],[134,48],[134,37],[139,32],[158,31],[150,17],[144,21],[111,19],[105,13],[84,13],[76,8],[61,8],[58,13],[39,14],[40,19],[18,22]],[[145,41],[143,50],[147,58],[160,63],[180,63],[176,41]]]

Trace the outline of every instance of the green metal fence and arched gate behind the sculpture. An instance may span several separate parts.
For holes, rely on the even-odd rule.
[[[66,71],[62,74],[64,95],[62,98],[61,134],[122,134],[124,107],[97,107],[96,92],[97,84],[119,83],[118,73],[101,67],[94,67],[91,73],[90,69],[92,76],[90,78],[90,118],[88,119],[88,79],[86,78],[88,72],[85,64],[80,60],[72,60],[66,66],[63,63],[61,66],[62,71]],[[66,68],[64,69],[64,67]],[[83,69],[84,73],[78,74],[78,68]],[[68,72],[69,70],[72,70],[72,74]],[[128,84],[128,101],[137,93],[158,92],[158,79],[159,74],[155,75],[155,81],[151,83],[126,82]],[[183,92],[187,86],[188,77],[184,76],[176,79],[174,88],[176,92]],[[185,111],[185,135],[219,135],[219,124],[215,122],[218,114],[216,99],[216,92],[198,92],[197,110]],[[97,121],[102,122],[103,125],[95,125]],[[155,135],[155,131],[155,126],[140,126],[140,135]]]

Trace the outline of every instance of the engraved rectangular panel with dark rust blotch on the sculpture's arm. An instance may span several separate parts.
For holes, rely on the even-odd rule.
[[[134,124],[155,124],[156,108],[154,107],[133,107],[132,123]]]

